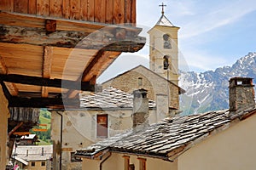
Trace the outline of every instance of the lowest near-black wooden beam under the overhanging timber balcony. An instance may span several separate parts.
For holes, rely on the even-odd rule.
[[[63,98],[20,98],[12,97],[9,99],[9,107],[33,107],[44,108],[50,106],[67,106],[79,108],[80,101],[76,99],[63,99]]]

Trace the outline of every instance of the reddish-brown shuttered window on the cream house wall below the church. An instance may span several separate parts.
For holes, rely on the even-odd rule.
[[[97,115],[96,135],[99,138],[108,138],[108,115]]]

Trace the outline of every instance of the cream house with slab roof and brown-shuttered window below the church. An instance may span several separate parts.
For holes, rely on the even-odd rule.
[[[147,94],[147,90],[139,89],[133,94],[144,95]],[[142,104],[148,109],[149,124],[160,122],[166,117],[165,111],[168,111],[168,108],[164,109],[160,102],[155,103],[150,99],[140,102],[137,101],[140,98],[134,98],[133,94],[117,88],[105,88],[95,94],[81,94],[80,109],[51,111],[51,139],[54,143],[62,141],[63,145],[61,155],[58,155],[57,150],[59,144],[55,145],[53,156],[57,162],[54,161],[54,164],[58,164],[61,156],[63,168],[81,168],[81,160],[73,159],[74,152],[131,129],[132,115]]]

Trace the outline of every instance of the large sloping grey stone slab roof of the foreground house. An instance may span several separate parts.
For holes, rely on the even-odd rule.
[[[77,150],[77,156],[94,159],[107,151],[140,154],[172,161],[196,143],[214,133],[240,122],[256,113],[255,107],[236,114],[225,111],[212,111],[192,116],[175,116],[164,122],[148,127],[129,130],[113,138],[102,140],[84,150]]]

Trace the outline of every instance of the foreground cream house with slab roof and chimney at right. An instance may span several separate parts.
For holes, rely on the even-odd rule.
[[[234,77],[229,110],[145,122],[77,150],[76,156],[83,159],[83,169],[253,170],[255,128],[253,79]]]

